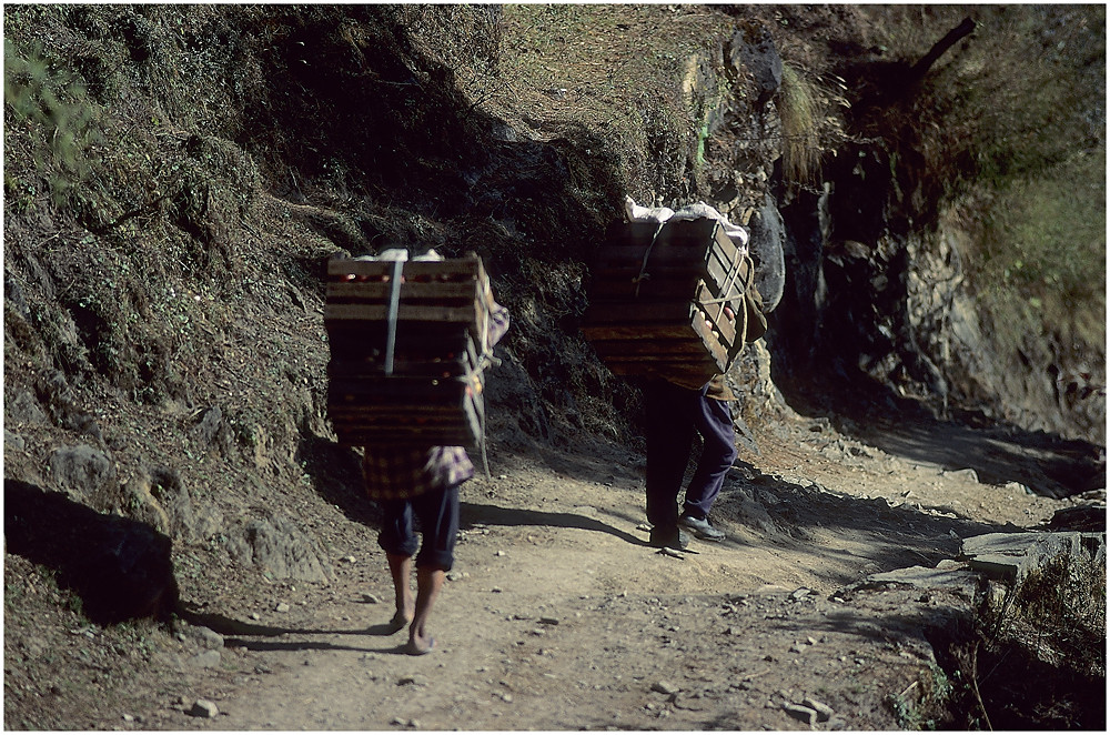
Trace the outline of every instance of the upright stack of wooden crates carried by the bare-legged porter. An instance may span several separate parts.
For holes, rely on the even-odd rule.
[[[327,411],[339,441],[477,446],[493,304],[482,261],[470,255],[398,268],[394,280],[392,261],[327,264]]]

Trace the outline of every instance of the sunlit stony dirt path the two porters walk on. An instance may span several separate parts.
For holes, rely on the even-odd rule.
[[[401,652],[404,633],[374,632],[393,612],[376,532],[324,520],[351,544],[336,581],[205,605],[195,622],[224,635],[220,684],[144,726],[805,729],[808,713],[790,709],[807,705],[817,728],[898,728],[891,697],[926,686],[928,631],[967,607],[967,591],[858,584],[1070,504],[886,454],[820,420],[758,443],[715,507],[727,540],[680,558],[646,544],[642,456],[493,452],[492,476],[464,486],[436,650],[421,657]],[[220,714],[189,716],[194,696]]]

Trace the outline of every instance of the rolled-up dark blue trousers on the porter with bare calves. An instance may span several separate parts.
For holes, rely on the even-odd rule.
[[[384,517],[377,545],[386,554],[416,554],[414,521],[418,520],[424,541],[416,554],[416,567],[451,571],[455,563],[455,537],[458,535],[458,485],[430,490],[407,500],[379,502]]]

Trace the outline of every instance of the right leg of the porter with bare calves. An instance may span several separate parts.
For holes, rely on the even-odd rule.
[[[446,573],[454,565],[455,538],[458,535],[458,485],[430,491],[413,499],[413,507],[424,532],[416,555],[416,607],[408,626],[407,651],[418,655],[435,645],[428,632],[432,614]]]

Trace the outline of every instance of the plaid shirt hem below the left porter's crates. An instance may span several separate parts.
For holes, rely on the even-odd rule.
[[[384,501],[457,485],[474,476],[474,464],[462,446],[367,446],[362,472],[366,494]]]

